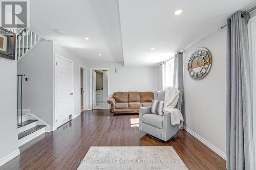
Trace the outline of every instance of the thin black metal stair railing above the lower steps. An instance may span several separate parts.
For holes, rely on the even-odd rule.
[[[23,83],[23,77],[25,75],[17,75],[17,126],[21,127],[22,125],[22,83]],[[20,83],[19,83],[20,81]],[[20,85],[19,85],[20,84]],[[20,87],[19,87],[20,86]],[[20,90],[19,90],[20,89]],[[20,104],[20,106],[19,106]],[[19,107],[20,107],[20,124],[19,124]]]

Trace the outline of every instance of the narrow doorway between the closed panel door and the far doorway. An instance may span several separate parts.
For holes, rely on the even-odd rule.
[[[79,65],[80,71],[80,113],[87,110],[87,68]]]

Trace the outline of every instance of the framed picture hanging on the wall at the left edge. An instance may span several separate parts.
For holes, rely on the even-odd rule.
[[[16,34],[0,27],[0,57],[15,60]]]

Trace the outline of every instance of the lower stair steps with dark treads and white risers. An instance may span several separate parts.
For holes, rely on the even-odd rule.
[[[22,119],[22,124],[20,120]],[[18,117],[18,145],[21,146],[35,137],[45,133],[47,126],[32,114],[23,114]],[[21,126],[22,125],[22,126]]]

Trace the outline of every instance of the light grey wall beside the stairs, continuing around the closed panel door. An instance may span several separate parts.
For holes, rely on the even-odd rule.
[[[54,54],[74,61],[74,115],[80,113],[80,67],[87,62],[53,41],[41,40],[18,62],[18,74],[25,74],[23,108],[44,120],[52,128],[54,105]],[[89,88],[89,87],[88,87]],[[84,90],[87,92],[88,90]]]

